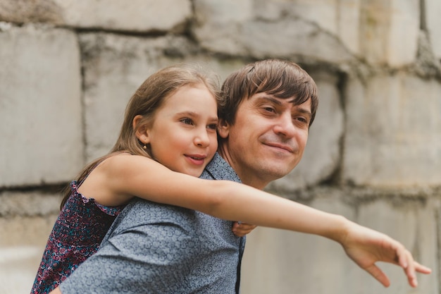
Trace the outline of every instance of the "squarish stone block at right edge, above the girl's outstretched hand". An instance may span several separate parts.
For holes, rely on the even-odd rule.
[[[407,73],[348,82],[342,178],[355,185],[441,183],[441,84]]]

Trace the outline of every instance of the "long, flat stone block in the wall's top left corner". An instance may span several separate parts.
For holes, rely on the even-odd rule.
[[[87,29],[182,32],[192,14],[190,0],[2,0],[0,20],[44,22]]]

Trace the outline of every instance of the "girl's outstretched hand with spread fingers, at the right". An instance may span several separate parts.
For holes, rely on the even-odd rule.
[[[422,274],[431,272],[428,267],[415,262],[411,252],[397,240],[356,223],[351,222],[341,244],[349,258],[385,287],[390,285],[389,278],[375,265],[375,262],[388,262],[402,267],[412,287],[418,286],[416,271]]]

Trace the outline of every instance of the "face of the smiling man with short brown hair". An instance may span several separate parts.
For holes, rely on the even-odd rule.
[[[219,152],[243,183],[263,189],[290,173],[302,159],[311,100],[294,105],[292,98],[254,94],[239,105],[234,125],[221,124],[219,135],[228,139]]]

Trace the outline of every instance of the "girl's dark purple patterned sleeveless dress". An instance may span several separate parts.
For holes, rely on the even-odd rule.
[[[97,252],[108,228],[124,206],[104,207],[78,192],[70,183],[70,196],[52,228],[32,294],[49,293],[88,257]]]

